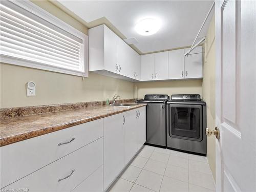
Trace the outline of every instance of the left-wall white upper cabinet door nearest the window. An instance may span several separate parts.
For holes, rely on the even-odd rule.
[[[104,66],[105,70],[118,71],[118,36],[104,26]]]

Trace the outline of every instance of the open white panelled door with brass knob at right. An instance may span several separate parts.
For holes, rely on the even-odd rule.
[[[256,191],[256,1],[216,1],[216,191]]]

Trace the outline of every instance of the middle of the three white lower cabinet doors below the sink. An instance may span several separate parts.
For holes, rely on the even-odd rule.
[[[137,147],[137,111],[127,111],[123,113],[125,118],[124,129],[125,129],[125,164],[136,154]]]

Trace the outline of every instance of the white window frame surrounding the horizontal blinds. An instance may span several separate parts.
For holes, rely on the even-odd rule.
[[[23,9],[26,9],[27,11],[29,11],[31,13],[34,13],[35,15],[41,17],[42,19],[48,20],[48,22],[50,22],[51,24],[82,39],[81,57],[82,57],[82,60],[84,63],[84,66],[83,66],[84,72],[65,69],[65,68],[61,68],[61,67],[55,67],[55,66],[48,65],[46,63],[35,62],[35,61],[31,61],[31,60],[26,60],[23,58],[17,58],[17,57],[0,54],[1,63],[7,63],[7,64],[11,64],[11,65],[41,69],[41,70],[64,73],[64,74],[70,74],[70,75],[75,75],[75,76],[88,77],[88,35],[78,31],[74,27],[63,22],[61,19],[57,18],[56,16],[52,15],[51,13],[38,7],[37,5],[35,5],[34,3],[32,3],[28,0],[26,0],[26,1],[11,1],[11,2],[18,5],[19,7],[22,7]]]

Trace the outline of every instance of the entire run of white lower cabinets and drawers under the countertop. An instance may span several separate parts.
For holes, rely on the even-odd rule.
[[[144,144],[145,123],[143,106],[3,146],[1,188],[104,191]]]

